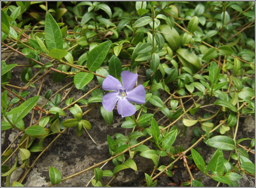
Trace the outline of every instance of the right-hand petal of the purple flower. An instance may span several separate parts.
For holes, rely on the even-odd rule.
[[[145,99],[146,91],[143,85],[138,85],[136,88],[126,93],[126,99],[130,102],[143,104],[146,102]]]

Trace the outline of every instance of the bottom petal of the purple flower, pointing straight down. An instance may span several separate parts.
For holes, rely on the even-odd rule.
[[[120,98],[117,102],[118,114],[123,117],[131,116],[136,112],[136,107],[130,103],[126,98]]]

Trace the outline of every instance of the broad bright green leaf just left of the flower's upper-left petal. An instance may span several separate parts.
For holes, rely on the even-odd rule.
[[[93,73],[78,72],[74,76],[74,85],[77,89],[81,89],[93,80]]]

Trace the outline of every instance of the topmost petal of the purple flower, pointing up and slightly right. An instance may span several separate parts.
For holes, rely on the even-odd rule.
[[[134,74],[128,70],[125,70],[121,73],[123,88],[126,92],[130,91],[133,86],[136,84],[138,79],[138,74]]]

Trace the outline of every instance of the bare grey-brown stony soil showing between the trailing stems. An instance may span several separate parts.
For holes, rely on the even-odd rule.
[[[3,53],[2,59],[5,59],[9,53]],[[48,62],[47,59],[42,60],[43,63]],[[28,64],[28,59],[26,59],[23,56],[18,55],[17,53],[14,53],[10,56],[10,58],[6,61],[6,64],[11,63],[18,63],[19,65],[25,65]],[[15,67],[11,70],[12,73],[12,79],[8,80],[11,85],[24,87],[25,83],[23,83],[20,79],[20,74],[24,67]],[[35,72],[37,72],[39,69],[32,68],[33,75]],[[45,101],[44,94],[49,89],[52,89],[52,93],[55,93],[58,89],[63,87],[64,85],[70,83],[73,81],[73,78],[69,77],[64,79],[62,82],[54,83],[52,81],[52,74],[51,71],[50,74],[48,74],[45,77],[44,85],[41,90],[41,98],[38,102],[39,105],[42,105]],[[42,73],[40,74],[42,75]],[[139,77],[140,79],[141,77]],[[41,84],[41,81],[37,81],[35,83],[36,88],[29,87],[27,91],[29,91],[28,98],[35,96],[38,92],[39,86]],[[142,84],[143,80],[141,79],[138,84]],[[94,77],[93,81],[87,86],[87,91],[92,89],[98,85],[98,81],[96,77]],[[9,89],[13,89],[8,87]],[[16,91],[19,92],[19,90],[16,89]],[[1,91],[3,92],[3,90]],[[63,91],[60,92],[61,96],[64,96]],[[68,97],[74,97],[75,99],[82,96],[84,92],[81,90],[76,89],[73,87],[71,92],[69,93]],[[165,93],[160,93],[162,98],[167,98],[168,96]],[[87,99],[89,96],[86,96],[85,99]],[[66,98],[67,99],[67,98]],[[202,104],[205,104],[207,101],[202,101]],[[192,103],[192,101],[191,101]],[[185,108],[190,104],[190,102],[187,102],[185,104]],[[60,104],[59,107],[65,107],[65,100]],[[49,107],[48,107],[49,108]],[[48,109],[47,108],[47,109]],[[211,109],[210,107],[209,109]],[[84,107],[82,110],[85,112],[88,108]],[[216,109],[211,109],[212,111],[215,111]],[[49,178],[49,167],[55,167],[57,168],[62,178],[65,178],[67,176],[73,175],[81,170],[84,170],[90,166],[92,166],[94,163],[98,163],[101,161],[104,161],[108,159],[110,156],[109,149],[107,145],[107,135],[110,135],[114,138],[115,133],[122,133],[125,136],[128,136],[129,129],[121,128],[121,124],[124,122],[124,118],[121,118],[121,116],[117,113],[117,110],[114,109],[113,111],[113,123],[112,125],[107,125],[102,118],[100,112],[100,106],[96,106],[92,111],[90,111],[86,116],[83,118],[91,122],[92,129],[89,130],[89,134],[93,137],[93,139],[99,144],[98,146],[93,143],[93,141],[89,138],[88,134],[86,132],[83,132],[83,134],[78,137],[76,134],[76,129],[71,128],[65,133],[63,133],[46,151],[40,159],[35,163],[34,167],[31,169],[25,180],[23,181],[24,186],[47,186],[50,184],[50,178]],[[72,114],[67,110],[65,111],[66,117],[65,119],[73,118]],[[203,117],[205,111],[199,110],[195,116],[191,116],[194,119],[198,118],[199,116]],[[163,117],[163,114],[161,112],[158,112],[154,116],[156,119],[160,119]],[[25,126],[29,125],[30,123],[31,114],[28,114],[23,120],[25,122]],[[33,124],[36,123],[37,119],[39,118],[39,114],[35,113]],[[163,119],[159,124],[161,124],[164,120]],[[214,125],[219,123],[217,120],[214,120],[216,122],[213,122]],[[166,126],[169,124],[169,121],[167,121],[163,126]],[[180,129],[181,133],[183,132],[183,124],[180,121],[176,124]],[[196,125],[198,128],[199,125]],[[193,126],[194,127],[194,126]],[[192,144],[192,140],[196,138],[196,136],[193,133],[193,127],[188,127],[186,130],[185,135],[180,137],[179,134],[173,144],[174,148],[177,148],[178,146],[182,146],[183,149],[187,149]],[[46,126],[46,128],[49,128],[49,124]],[[10,142],[16,137],[18,131],[16,130],[5,130],[1,132],[1,149],[5,150],[6,147],[10,144]],[[45,139],[45,146],[47,146],[54,138],[56,134],[52,134]],[[254,138],[255,137],[255,118],[253,116],[248,117],[242,117],[239,119],[239,129],[237,134],[237,139],[239,138]],[[21,138],[21,137],[20,137]],[[14,145],[12,147],[16,147],[19,143],[19,140],[16,140],[14,142]],[[39,139],[36,139],[35,142],[38,142]],[[249,141],[242,142],[242,145],[248,146]],[[145,145],[151,147],[154,149],[150,141],[147,141]],[[204,142],[201,142],[198,147],[201,148],[198,152],[203,156],[206,164],[210,161],[213,153],[216,149],[212,149],[208,147]],[[198,149],[200,149],[198,148]],[[254,151],[254,148],[253,150]],[[36,159],[36,157],[39,155],[40,152],[31,152],[30,157],[30,164]],[[22,165],[22,162],[20,160],[19,153],[16,153],[19,164],[17,166]],[[188,154],[189,155],[189,154]],[[224,157],[227,159],[229,156],[229,152],[224,151]],[[255,156],[249,153],[250,160],[255,163]],[[125,158],[129,158],[129,154],[125,154]],[[144,173],[151,174],[154,163],[150,159],[143,158],[139,156],[139,153],[135,155],[133,160],[136,162],[137,171],[132,170],[131,168],[124,169],[120,171],[120,173],[117,175],[116,178],[113,179],[113,181],[110,183],[110,186],[117,186],[117,187],[131,187],[131,186],[142,186],[146,183],[145,181],[145,175]],[[13,164],[15,161],[15,157],[12,157],[10,160],[9,165]],[[235,161],[233,159],[230,160],[231,163],[234,163]],[[160,165],[168,165],[171,163],[170,158],[167,157],[161,157],[159,161]],[[188,160],[188,165],[191,167],[191,172],[193,176],[196,178],[203,177],[204,181],[201,181],[204,186],[216,186],[217,182],[213,181],[212,179],[207,179],[208,177],[204,175],[200,175],[199,170],[194,164],[193,160]],[[99,166],[100,167],[100,166]],[[109,169],[113,170],[114,164],[112,161],[109,161],[104,167],[103,170]],[[23,168],[24,169],[24,168]],[[25,170],[22,168],[17,169],[11,176],[10,185],[12,182],[20,180],[22,175],[25,173]],[[175,166],[173,168],[173,177],[167,177],[165,174],[162,174],[157,179],[157,186],[162,187],[176,187],[180,186],[183,182],[187,182],[190,180],[189,174],[187,173],[186,167],[183,165],[183,161],[179,161],[175,163]],[[158,173],[159,171],[155,171],[155,173]],[[70,178],[66,181],[60,182],[57,186],[68,186],[68,187],[80,187],[80,186],[86,186],[88,182],[93,178],[94,176],[94,170],[88,170],[85,173],[82,173],[81,175],[75,176],[73,178]],[[239,186],[255,186],[254,178],[251,178],[249,176],[242,176],[243,181],[239,181]],[[104,185],[108,183],[108,181],[111,179],[111,177],[103,177],[100,181]],[[249,182],[249,183],[248,183]],[[4,182],[1,183],[2,186],[4,186]],[[90,183],[89,186],[92,186]],[[222,185],[221,185],[222,186]],[[224,186],[224,185],[223,185]]]

